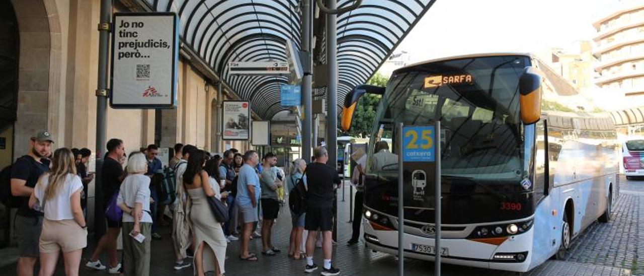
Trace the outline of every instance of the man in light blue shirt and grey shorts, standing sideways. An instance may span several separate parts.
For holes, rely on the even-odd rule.
[[[237,176],[236,201],[242,213],[242,242],[240,242],[240,259],[257,261],[257,255],[249,252],[248,244],[251,239],[252,225],[258,221],[257,202],[260,200],[260,178],[254,167],[259,163],[257,152],[249,150],[243,155],[244,164]]]

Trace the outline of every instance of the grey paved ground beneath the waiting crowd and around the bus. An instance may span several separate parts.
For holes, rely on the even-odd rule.
[[[334,246],[333,265],[341,270],[341,275],[397,275],[397,257],[384,253],[366,250],[363,241],[353,246],[346,246],[346,241],[351,235],[349,220],[349,194],[346,189],[345,202],[341,201],[342,194],[338,194],[339,209],[339,244]],[[542,266],[529,271],[524,275],[630,275],[630,270],[643,273],[641,265],[643,255],[638,251],[642,234],[639,230],[640,212],[644,208],[644,201],[636,195],[622,194],[614,208],[613,221],[608,224],[592,224],[592,226],[576,239],[572,245],[568,261],[547,261]],[[151,275],[193,275],[192,268],[182,271],[173,270],[175,262],[172,241],[169,236],[170,226],[160,228],[163,239],[152,242]],[[281,208],[278,222],[273,230],[274,245],[282,253],[273,257],[261,255],[261,239],[251,241],[251,251],[258,253],[259,261],[240,261],[239,242],[229,243],[225,262],[226,275],[307,275],[303,272],[304,260],[294,261],[287,257],[288,239],[290,233],[290,213],[287,207]],[[93,247],[93,244],[92,244]],[[88,258],[90,248],[84,251],[83,257]],[[321,250],[316,250],[316,263],[321,266]],[[86,259],[83,259],[82,264]],[[103,257],[104,264],[106,263]],[[433,275],[433,263],[406,259],[406,275]],[[15,264],[0,268],[1,275],[15,275]],[[90,271],[81,268],[81,275],[108,275],[104,271]],[[55,275],[64,275],[62,263]],[[310,275],[319,275],[319,271]],[[442,275],[516,275],[515,273],[498,270],[485,270],[464,266],[442,265]]]

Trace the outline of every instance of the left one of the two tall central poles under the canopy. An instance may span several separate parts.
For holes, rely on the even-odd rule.
[[[313,119],[311,103],[311,85],[313,76],[313,55],[311,40],[313,33],[313,5],[311,0],[302,1],[302,37],[301,50],[306,54],[304,62],[304,75],[302,77],[302,105],[304,106],[304,118],[302,122],[302,157],[309,163],[311,161],[311,122]]]

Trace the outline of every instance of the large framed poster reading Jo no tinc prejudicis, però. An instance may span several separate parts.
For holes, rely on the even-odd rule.
[[[112,108],[173,108],[176,104],[178,17],[116,13],[111,47]]]

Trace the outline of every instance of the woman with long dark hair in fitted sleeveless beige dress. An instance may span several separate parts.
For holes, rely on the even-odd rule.
[[[190,219],[196,239],[194,275],[202,276],[207,271],[223,275],[227,242],[222,224],[214,219],[207,201],[207,197],[214,197],[215,192],[209,183],[208,173],[203,170],[204,161],[204,151],[192,152],[184,173],[185,189],[192,201]]]

